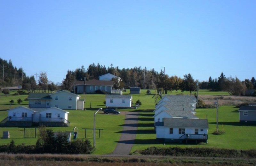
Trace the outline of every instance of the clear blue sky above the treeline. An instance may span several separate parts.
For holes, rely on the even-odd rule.
[[[256,77],[256,1],[0,0],[0,57],[28,76],[100,63]]]

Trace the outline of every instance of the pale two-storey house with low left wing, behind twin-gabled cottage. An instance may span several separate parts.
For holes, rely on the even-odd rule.
[[[29,108],[84,109],[84,100],[80,95],[68,91],[59,91],[53,94],[30,93],[28,95]]]

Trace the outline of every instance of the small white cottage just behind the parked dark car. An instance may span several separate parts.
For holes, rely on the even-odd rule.
[[[132,107],[132,95],[107,94],[106,107],[130,108]]]

